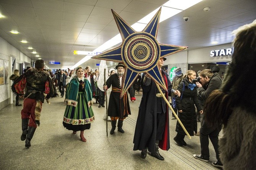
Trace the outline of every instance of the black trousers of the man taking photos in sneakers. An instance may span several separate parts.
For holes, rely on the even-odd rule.
[[[221,130],[221,124],[215,125],[214,127],[209,127],[205,121],[203,121],[203,124],[200,128],[200,144],[201,144],[201,155],[209,159],[209,138],[212,142],[212,145],[214,147],[216,158],[220,161],[219,158],[219,133]]]

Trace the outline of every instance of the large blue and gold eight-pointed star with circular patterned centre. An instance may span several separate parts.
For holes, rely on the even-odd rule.
[[[161,68],[158,66],[159,58],[177,53],[188,47],[167,45],[157,42],[157,30],[159,25],[161,8],[142,32],[136,32],[115,11],[112,10],[115,22],[122,37],[122,44],[112,50],[101,53],[92,58],[123,63],[126,66],[122,82],[121,98],[130,88],[139,73],[144,72],[154,82],[167,90]]]

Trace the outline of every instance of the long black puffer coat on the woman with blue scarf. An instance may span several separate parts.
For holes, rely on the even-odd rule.
[[[183,90],[183,84],[185,83],[185,89]],[[185,78],[179,85],[178,90],[182,95],[182,99],[180,97],[176,98],[177,109],[182,110],[182,113],[178,112],[178,117],[180,121],[188,131],[191,136],[194,136],[193,132],[197,133],[197,122],[196,122],[196,108],[200,111],[202,110],[201,105],[199,104],[197,97],[197,89],[194,87],[193,90],[188,88],[188,85],[191,84],[187,78]],[[177,121],[176,132],[181,135],[186,135],[184,130],[182,129],[180,123]]]

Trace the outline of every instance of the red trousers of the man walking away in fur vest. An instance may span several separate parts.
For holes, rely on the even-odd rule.
[[[41,102],[41,107],[42,107],[42,102]],[[29,119],[28,126],[36,128],[37,125],[36,125],[35,108],[36,108],[36,99],[26,98],[23,102],[23,109],[21,110],[21,119]]]

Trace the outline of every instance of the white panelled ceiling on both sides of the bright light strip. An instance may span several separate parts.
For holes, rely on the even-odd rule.
[[[0,0],[0,37],[29,58],[36,52],[44,59],[60,62],[49,68],[66,69],[84,58],[74,50],[93,51],[117,35],[113,9],[132,25],[168,0]],[[203,11],[210,7],[209,12]],[[183,16],[189,16],[185,22]],[[230,43],[232,30],[256,19],[255,0],[203,0],[161,22],[159,43],[189,47],[188,50]],[[18,35],[11,34],[17,30]],[[27,40],[28,43],[21,43]],[[31,46],[34,49],[29,50]],[[97,59],[82,66],[96,67]],[[113,62],[107,61],[113,66]],[[110,66],[111,67],[111,66]]]

